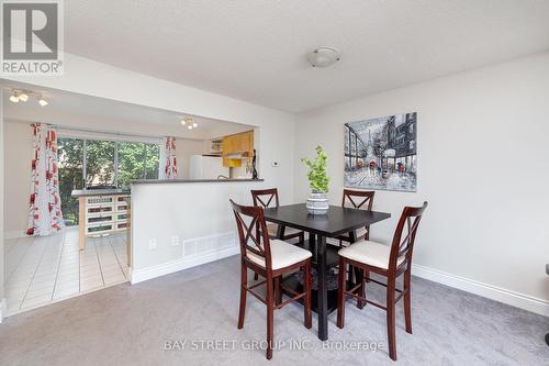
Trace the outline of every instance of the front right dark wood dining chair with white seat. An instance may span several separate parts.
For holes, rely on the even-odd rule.
[[[346,270],[339,270],[338,292],[337,292],[337,326],[345,325],[345,300],[347,296],[357,298],[363,303],[371,303],[386,311],[386,330],[389,340],[389,356],[396,361],[396,340],[395,340],[395,304],[404,297],[404,319],[406,332],[412,334],[412,314],[411,314],[411,269],[412,254],[414,249],[415,235],[422,215],[427,208],[427,202],[422,207],[405,207],[402,211],[399,223],[394,231],[391,246],[370,241],[360,241],[347,247],[339,249],[339,268],[346,268],[351,265],[366,273],[374,273],[386,277],[386,284],[374,280],[369,276],[361,278],[359,284],[351,289],[346,289]],[[404,229],[406,235],[403,237]],[[396,278],[404,274],[403,288],[396,288]],[[370,301],[366,298],[366,279],[386,287],[385,306]],[[357,293],[361,293],[360,296]],[[399,293],[395,296],[395,293]]]

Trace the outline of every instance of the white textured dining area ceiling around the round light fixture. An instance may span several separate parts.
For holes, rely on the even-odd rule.
[[[300,112],[549,49],[547,0],[70,0],[67,52]],[[343,58],[312,68],[306,52]]]

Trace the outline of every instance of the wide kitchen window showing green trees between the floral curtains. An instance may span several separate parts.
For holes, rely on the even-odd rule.
[[[159,144],[60,137],[58,148],[59,195],[67,225],[78,224],[74,189],[90,186],[128,189],[132,180],[158,179]]]

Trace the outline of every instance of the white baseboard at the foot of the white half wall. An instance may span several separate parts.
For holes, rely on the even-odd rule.
[[[213,251],[211,253],[193,255],[189,257],[183,257],[181,259],[171,260],[158,266],[130,270],[130,281],[132,285],[143,282],[147,279],[153,279],[156,277],[169,275],[182,269],[200,266],[205,263],[223,259],[240,252],[238,246],[231,246],[221,251]]]

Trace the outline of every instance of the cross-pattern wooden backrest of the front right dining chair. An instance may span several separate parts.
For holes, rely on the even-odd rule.
[[[389,268],[396,268],[397,263],[407,263],[407,267],[411,266],[415,235],[427,204],[427,201],[425,201],[422,207],[405,207],[402,211],[401,219],[394,231],[393,243],[391,244]],[[406,229],[406,236],[403,239],[404,228]]]

